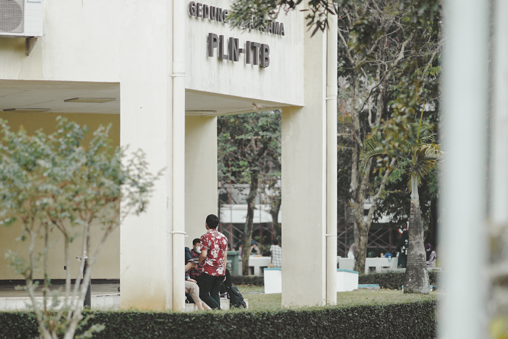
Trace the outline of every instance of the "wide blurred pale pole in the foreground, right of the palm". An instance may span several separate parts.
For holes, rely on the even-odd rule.
[[[489,1],[444,0],[440,227],[442,339],[487,336],[487,55]],[[474,249],[472,254],[471,249]],[[442,258],[442,256],[441,256]]]

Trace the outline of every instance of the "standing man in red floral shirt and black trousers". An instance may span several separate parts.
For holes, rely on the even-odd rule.
[[[220,309],[220,284],[226,279],[228,239],[217,231],[219,218],[210,214],[206,217],[207,232],[201,236],[203,272],[198,278],[199,297],[212,309]]]

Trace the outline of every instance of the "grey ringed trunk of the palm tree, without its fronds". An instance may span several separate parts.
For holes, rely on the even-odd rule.
[[[423,244],[423,222],[418,196],[418,181],[411,175],[411,215],[409,217],[409,250],[404,278],[404,293],[429,294],[429,272]]]

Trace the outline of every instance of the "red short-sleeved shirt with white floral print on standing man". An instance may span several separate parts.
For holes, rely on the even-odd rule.
[[[224,254],[228,250],[228,238],[212,228],[201,236],[201,245],[203,246],[201,251],[208,251],[203,264],[203,273],[208,275],[226,274]]]

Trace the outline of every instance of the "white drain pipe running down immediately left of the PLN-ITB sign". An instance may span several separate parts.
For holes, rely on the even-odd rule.
[[[169,19],[169,18],[168,18]],[[168,20],[169,21],[169,20]],[[173,310],[185,311],[185,4],[173,0]],[[169,117],[171,118],[171,117]]]

